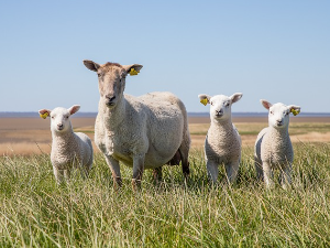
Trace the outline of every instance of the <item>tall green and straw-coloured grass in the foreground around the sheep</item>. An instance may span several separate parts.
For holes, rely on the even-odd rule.
[[[0,158],[0,247],[329,247],[330,147],[295,144],[293,187],[258,184],[245,148],[238,183],[208,184],[204,154],[191,151],[191,176],[166,166],[146,171],[142,190],[112,188],[96,154],[88,180],[57,186],[50,157]],[[221,170],[220,177],[224,172]]]

